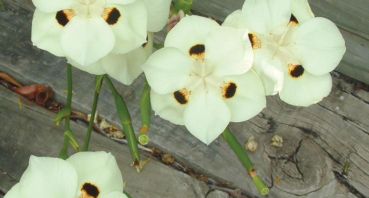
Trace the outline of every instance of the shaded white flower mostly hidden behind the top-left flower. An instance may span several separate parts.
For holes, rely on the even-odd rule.
[[[147,37],[145,43],[124,54],[109,53],[94,64],[84,66],[68,58],[73,66],[95,75],[109,74],[119,82],[130,85],[142,73],[143,65],[153,53],[154,33],[160,31],[168,20],[171,0],[143,0],[147,8]],[[135,16],[132,10],[130,15]],[[145,24],[145,21],[139,22]],[[120,43],[118,45],[125,45]]]

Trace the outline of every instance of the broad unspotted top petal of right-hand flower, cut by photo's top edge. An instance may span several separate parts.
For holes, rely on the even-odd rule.
[[[269,34],[291,18],[290,0],[246,0],[242,11],[246,27],[258,34]]]

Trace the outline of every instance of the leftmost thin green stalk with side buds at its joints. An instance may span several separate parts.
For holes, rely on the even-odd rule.
[[[76,138],[74,137],[72,131],[70,130],[70,112],[72,109],[72,65],[67,64],[67,100],[65,103],[65,108],[61,110],[54,119],[56,125],[59,125],[61,120],[65,118],[64,124],[64,143],[63,148],[61,148],[59,152],[59,158],[66,159],[68,158],[68,142],[72,145],[72,147],[76,151],[80,151],[80,147]]]

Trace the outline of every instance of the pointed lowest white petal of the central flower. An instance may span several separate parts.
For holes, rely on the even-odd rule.
[[[191,95],[183,117],[190,133],[209,145],[228,126],[231,113],[219,93],[206,93],[198,88]]]

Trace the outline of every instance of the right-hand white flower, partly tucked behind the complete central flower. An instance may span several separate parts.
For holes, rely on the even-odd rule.
[[[329,74],[345,53],[345,41],[333,22],[315,17],[307,0],[246,0],[223,26],[248,28],[253,69],[266,95],[279,92],[292,105],[309,106],[328,96]]]

